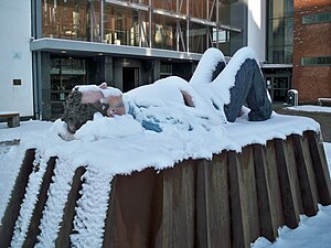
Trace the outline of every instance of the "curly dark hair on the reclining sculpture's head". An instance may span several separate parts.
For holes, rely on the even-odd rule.
[[[75,133],[88,120],[93,120],[95,112],[106,115],[105,106],[100,101],[93,104],[82,104],[82,93],[77,89],[71,91],[64,104],[64,114],[61,120],[67,123],[70,132]]]

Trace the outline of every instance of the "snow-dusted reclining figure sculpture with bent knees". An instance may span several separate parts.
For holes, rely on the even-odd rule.
[[[163,94],[162,88],[171,94]],[[227,65],[220,50],[209,48],[189,83],[171,76],[124,95],[119,89],[107,87],[106,83],[100,86],[76,86],[67,97],[61,119],[72,133],[93,120],[96,112],[108,117],[130,114],[136,119],[137,106],[131,105],[130,100],[137,98],[140,98],[140,103],[143,103],[143,98],[153,98],[156,106],[160,101],[181,103],[186,107],[211,111],[222,122],[234,122],[244,104],[250,109],[250,121],[267,120],[271,115],[271,103],[255,53],[249,47],[243,47]],[[138,106],[139,111],[149,107],[142,105]],[[161,131],[153,119],[142,120],[141,123],[146,129]]]

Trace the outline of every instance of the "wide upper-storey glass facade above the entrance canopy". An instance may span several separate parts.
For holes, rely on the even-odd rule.
[[[42,0],[42,36],[231,54],[231,0]],[[234,28],[235,26],[235,28]]]

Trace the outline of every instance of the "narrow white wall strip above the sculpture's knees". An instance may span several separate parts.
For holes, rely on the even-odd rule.
[[[247,45],[254,48],[258,61],[266,58],[266,1],[248,1],[248,41]]]

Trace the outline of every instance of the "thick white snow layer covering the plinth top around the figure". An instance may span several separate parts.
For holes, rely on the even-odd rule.
[[[248,144],[266,144],[268,140],[286,139],[306,130],[320,131],[319,123],[310,118],[275,112],[261,122],[248,121],[244,114],[234,123],[217,127],[197,122],[195,129],[185,128],[186,125],[181,122],[156,132],[143,129],[130,115],[115,118],[96,115],[71,141],[60,137],[66,133],[66,126],[56,120],[39,139],[26,137],[21,144],[26,149],[36,148],[42,157],[62,158],[75,168],[88,165],[114,175],[130,174],[149,166],[162,170],[190,158],[211,159],[213,153],[223,150],[241,152]]]

